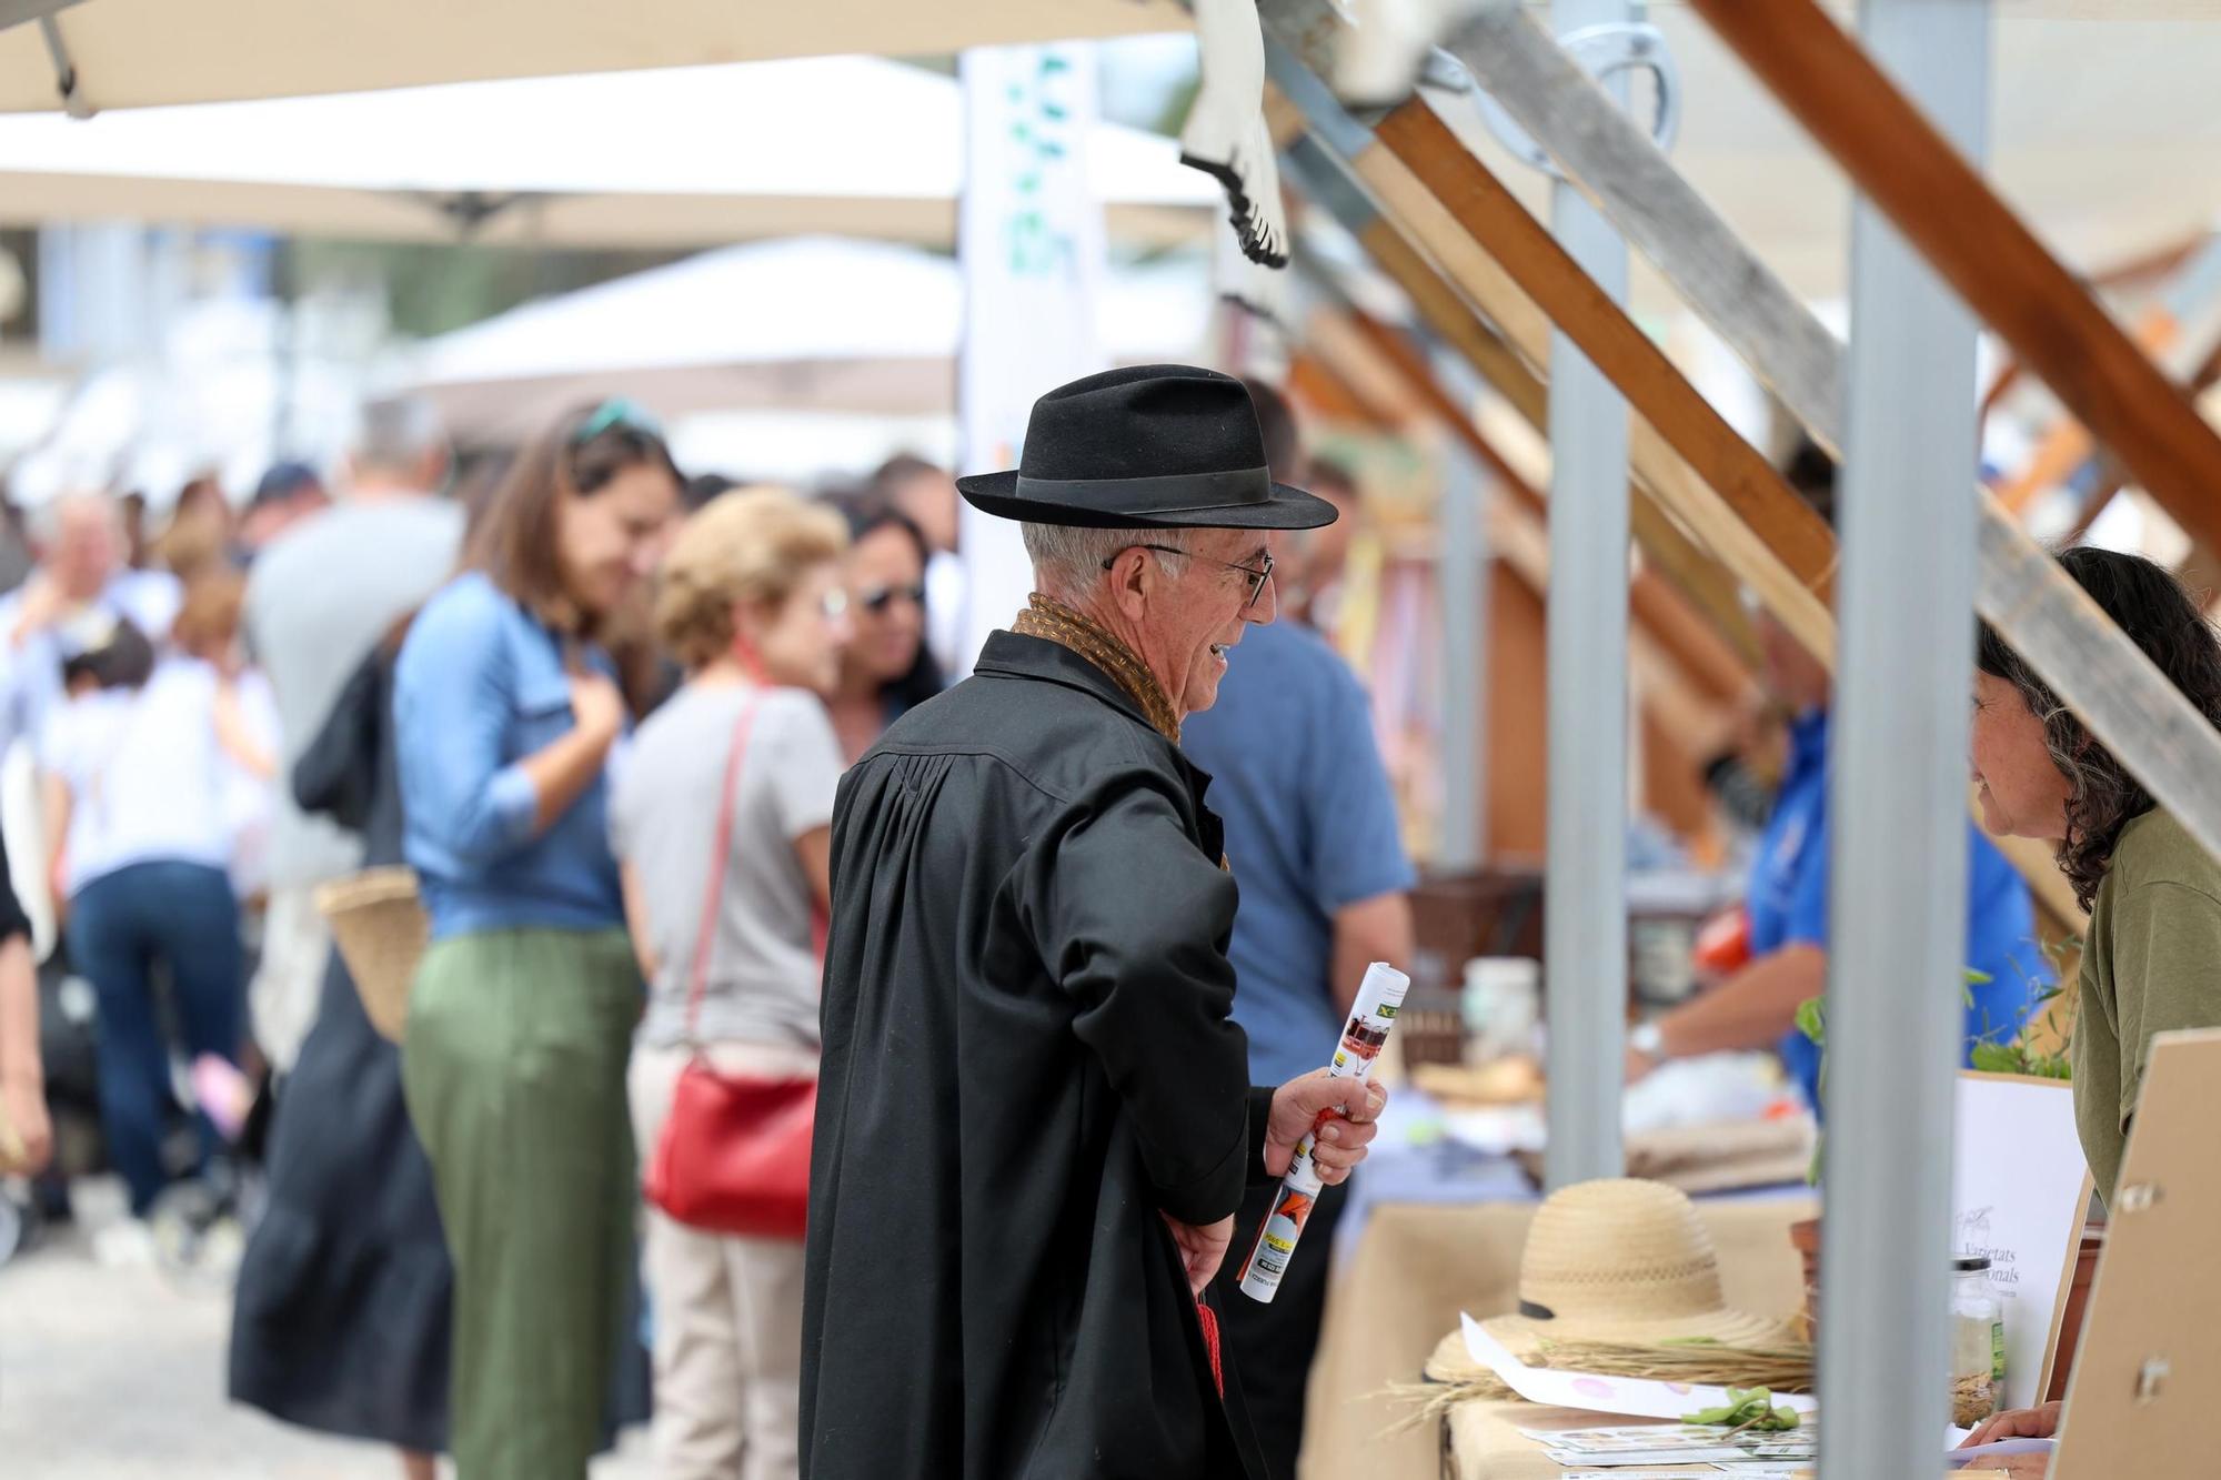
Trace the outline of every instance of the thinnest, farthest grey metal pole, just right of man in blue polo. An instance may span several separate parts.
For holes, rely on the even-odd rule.
[[[1437,376],[1459,387],[1448,358],[1435,356]],[[1453,391],[1455,393],[1455,391]],[[1488,476],[1473,453],[1453,442],[1441,484],[1441,838],[1435,860],[1444,869],[1475,869],[1486,853],[1486,796],[1481,762],[1488,736]]]

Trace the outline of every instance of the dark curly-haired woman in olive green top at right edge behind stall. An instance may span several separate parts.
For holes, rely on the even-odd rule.
[[[2181,582],[2141,556],[2059,564],[2221,727],[2221,642]],[[2112,1202],[2152,1038],[2221,1027],[2221,862],[2199,847],[1988,624],[1974,660],[1983,827],[2043,838],[2090,911],[2074,1016],[2074,1120]],[[2048,1436],[2059,1404],[2001,1413],[1974,1440]]]

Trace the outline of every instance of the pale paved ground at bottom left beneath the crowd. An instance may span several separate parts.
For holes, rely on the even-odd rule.
[[[0,1478],[398,1480],[391,1451],[224,1402],[231,1298],[109,1269],[82,1231],[0,1267]],[[593,1480],[649,1480],[640,1433]]]

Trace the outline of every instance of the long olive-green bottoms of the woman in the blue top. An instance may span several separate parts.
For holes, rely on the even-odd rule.
[[[604,1433],[633,1280],[624,931],[438,940],[409,996],[402,1087],[455,1260],[460,1480],[573,1480]]]

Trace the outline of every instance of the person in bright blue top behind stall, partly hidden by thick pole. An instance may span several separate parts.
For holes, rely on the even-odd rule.
[[[1817,449],[1788,469],[1790,487],[1835,522],[1835,467]],[[1828,989],[1828,669],[1772,618],[1759,616],[1766,687],[1790,716],[1790,762],[1750,867],[1750,962],[1723,982],[1628,1036],[1628,1078],[1659,1062],[1777,1044],[1806,1100],[1819,1109],[1819,1049],[1797,1031],[1797,1007]],[[1968,820],[1966,1042],[2019,1038],[2050,971],[2037,942],[2028,884]]]

